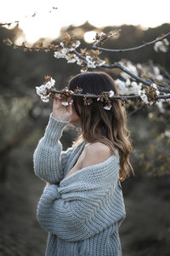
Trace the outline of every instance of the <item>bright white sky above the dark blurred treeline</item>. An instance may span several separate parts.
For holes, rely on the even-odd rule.
[[[170,23],[169,6],[169,0],[8,0],[0,3],[0,22],[20,20],[24,37],[15,43],[26,40],[33,44],[39,38],[58,38],[62,26],[81,26],[87,20],[97,27],[129,24],[146,29],[160,26]],[[37,15],[32,18],[34,12]],[[93,33],[92,36],[94,38]],[[90,42],[90,33],[86,39]]]

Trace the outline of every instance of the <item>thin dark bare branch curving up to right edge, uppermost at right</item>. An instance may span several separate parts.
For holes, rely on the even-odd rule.
[[[97,44],[99,44],[99,41],[97,41],[96,43],[93,44],[93,48],[94,49],[100,49],[100,50],[105,50],[105,51],[110,51],[110,52],[125,52],[125,51],[130,51],[130,50],[135,50],[135,49],[141,49],[144,48],[145,46],[148,46],[150,44],[155,44],[156,42],[162,41],[163,39],[167,38],[170,35],[170,32],[167,32],[167,34],[165,34],[164,36],[162,36],[161,38],[156,38],[153,41],[150,42],[146,42],[142,45],[133,47],[133,48],[127,48],[127,49],[106,49],[106,48],[102,48],[99,47]],[[109,37],[108,37],[109,38]]]

